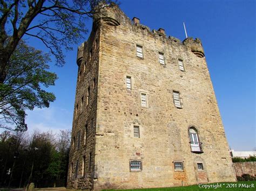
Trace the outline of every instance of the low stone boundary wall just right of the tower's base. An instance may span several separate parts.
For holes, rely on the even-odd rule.
[[[256,162],[234,162],[234,170],[237,176],[250,174],[256,176]]]

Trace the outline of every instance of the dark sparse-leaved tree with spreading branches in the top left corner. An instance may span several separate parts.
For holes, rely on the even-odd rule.
[[[85,19],[112,0],[1,0],[0,83],[8,75],[11,55],[24,37],[34,37],[63,65],[62,47],[71,49],[87,32]],[[21,114],[22,115],[22,114]]]

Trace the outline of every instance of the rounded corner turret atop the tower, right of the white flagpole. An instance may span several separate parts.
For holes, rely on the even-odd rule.
[[[183,41],[183,44],[190,47],[191,52],[196,54],[199,58],[204,58],[205,53],[200,39],[196,38],[194,40],[193,38],[189,37]]]

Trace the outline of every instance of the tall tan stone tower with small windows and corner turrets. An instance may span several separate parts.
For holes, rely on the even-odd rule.
[[[68,187],[235,181],[199,39],[150,31],[111,4],[77,65]]]

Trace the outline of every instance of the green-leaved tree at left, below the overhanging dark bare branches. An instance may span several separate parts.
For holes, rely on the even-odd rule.
[[[55,95],[42,89],[55,84],[57,75],[48,72],[49,54],[19,41],[8,61],[8,75],[0,83],[0,128],[25,131],[25,110],[49,107]],[[8,125],[10,124],[10,125]]]

